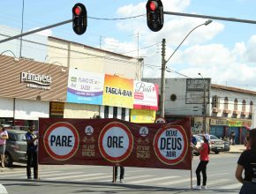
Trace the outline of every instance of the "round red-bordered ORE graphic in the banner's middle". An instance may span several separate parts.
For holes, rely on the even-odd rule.
[[[132,153],[132,132],[123,123],[109,123],[101,131],[98,144],[106,160],[123,161]]]

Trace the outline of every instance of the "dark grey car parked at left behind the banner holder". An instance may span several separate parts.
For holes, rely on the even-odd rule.
[[[13,161],[26,161],[26,131],[6,130],[9,138],[6,140],[4,165],[11,167]]]

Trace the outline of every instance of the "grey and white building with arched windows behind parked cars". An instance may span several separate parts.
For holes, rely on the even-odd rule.
[[[161,87],[161,78],[143,78]],[[194,133],[206,132],[218,138],[236,133],[243,144],[248,127],[254,126],[256,92],[210,83],[210,78],[166,78],[164,113],[167,121],[184,116],[192,118]]]

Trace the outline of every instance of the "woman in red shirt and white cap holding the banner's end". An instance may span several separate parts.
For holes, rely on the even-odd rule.
[[[207,189],[207,164],[209,162],[209,153],[210,153],[210,146],[209,146],[209,139],[210,136],[208,134],[203,135],[204,143],[200,147],[196,147],[191,144],[192,149],[200,152],[200,163],[198,168],[196,169],[197,175],[197,185],[193,187],[196,190],[206,190]],[[200,173],[203,175],[203,183],[201,185],[201,176]]]

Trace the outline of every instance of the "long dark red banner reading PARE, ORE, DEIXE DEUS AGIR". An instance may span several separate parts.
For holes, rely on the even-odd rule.
[[[39,119],[39,163],[191,169],[190,119]]]

